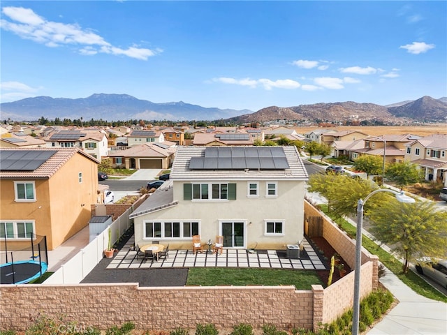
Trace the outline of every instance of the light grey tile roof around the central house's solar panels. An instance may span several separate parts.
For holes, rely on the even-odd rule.
[[[170,179],[184,181],[208,180],[302,180],[308,179],[307,170],[296,147],[284,146],[289,168],[285,170],[191,170],[192,157],[204,157],[207,147],[177,147]],[[251,147],[249,147],[251,148]]]

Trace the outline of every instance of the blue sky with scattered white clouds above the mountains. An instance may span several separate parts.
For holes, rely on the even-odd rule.
[[[259,110],[447,96],[447,1],[1,1],[1,102]]]

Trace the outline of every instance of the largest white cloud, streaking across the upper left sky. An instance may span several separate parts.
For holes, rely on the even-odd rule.
[[[47,47],[75,45],[78,46],[80,54],[91,55],[103,52],[144,61],[161,52],[161,50],[149,50],[135,45],[127,49],[115,47],[98,34],[89,31],[89,29],[82,29],[78,24],[47,21],[28,8],[5,7],[2,12],[3,16],[12,20],[0,20],[2,29],[11,31],[21,38],[44,44]]]

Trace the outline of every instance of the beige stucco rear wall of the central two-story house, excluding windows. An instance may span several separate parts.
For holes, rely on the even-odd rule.
[[[134,219],[135,242],[147,244],[151,239],[143,238],[143,225],[148,220],[198,221],[203,242],[214,241],[221,234],[219,221],[238,221],[244,223],[244,246],[242,248],[285,249],[286,244],[296,244],[302,240],[304,220],[304,181],[278,181],[278,197],[265,197],[265,181],[259,181],[259,197],[247,196],[247,181],[228,181],[236,183],[236,200],[203,201],[183,200],[183,182],[174,182],[174,201],[178,204],[154,211]],[[149,198],[150,201],[150,198]],[[284,221],[284,234],[266,235],[264,220]],[[157,239],[170,244],[172,248],[192,248],[191,239]]]

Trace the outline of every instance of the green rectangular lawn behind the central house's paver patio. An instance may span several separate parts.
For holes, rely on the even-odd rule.
[[[323,285],[316,271],[284,269],[209,268],[189,269],[186,285],[295,285],[297,290],[311,290],[311,285]]]

